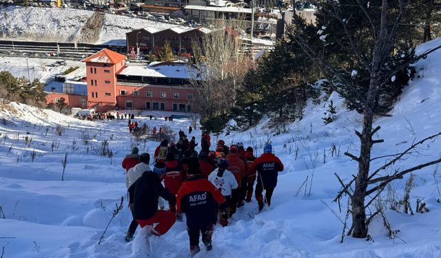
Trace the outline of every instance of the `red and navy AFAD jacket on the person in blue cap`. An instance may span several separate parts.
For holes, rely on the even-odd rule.
[[[264,189],[271,189],[277,185],[277,175],[279,171],[283,171],[283,163],[273,153],[263,153],[259,158],[254,160],[251,171],[257,171],[257,182],[263,184]]]

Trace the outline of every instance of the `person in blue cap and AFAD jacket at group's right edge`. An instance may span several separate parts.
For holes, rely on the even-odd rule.
[[[254,160],[251,171],[257,171],[256,200],[259,211],[263,209],[263,190],[265,190],[265,201],[271,205],[271,196],[277,185],[278,172],[283,171],[283,163],[272,152],[271,144],[266,144],[263,154]]]

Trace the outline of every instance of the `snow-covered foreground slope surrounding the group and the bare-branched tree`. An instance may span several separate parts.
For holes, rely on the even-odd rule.
[[[439,44],[441,39],[436,39],[421,45],[418,52]],[[397,153],[415,139],[441,130],[440,61],[441,51],[419,61],[417,77],[404,89],[392,116],[376,121],[382,127],[378,138],[384,143],[375,145],[373,157]],[[196,257],[441,257],[441,204],[436,201],[441,197],[441,175],[436,166],[416,171],[411,190],[413,210],[420,199],[427,203],[429,213],[407,215],[387,210],[399,238],[389,239],[378,218],[369,231],[373,241],[346,237],[340,244],[342,223],[336,216],[345,219],[346,202],[342,202],[341,213],[332,202],[340,190],[334,173],[345,180],[356,173],[356,162],[343,153],[357,152],[359,142],[353,130],[360,130],[362,118],[347,111],[336,94],[330,100],[338,113],[329,125],[322,122],[325,103],[310,104],[304,118],[291,124],[287,133],[274,136],[264,119],[252,130],[220,136],[227,144],[240,141],[245,147],[252,146],[258,155],[270,140],[285,171],[278,177],[270,208],[258,213],[255,200],[238,208],[229,226],[216,226],[214,249],[203,250]],[[176,132],[191,123],[145,116],[135,120],[141,125],[146,122],[150,129],[167,125]],[[5,246],[4,257],[188,256],[185,222],[176,222],[167,234],[147,240],[145,231],[138,229],[134,240],[126,243],[124,236],[132,219],[126,200],[103,243],[97,244],[115,204],[126,197],[123,157],[133,145],[151,154],[158,145],[130,138],[126,122],[87,122],[25,105],[0,105],[0,248]],[[201,131],[189,136],[199,139]],[[105,140],[114,153],[112,158],[96,153]],[[438,158],[440,140],[428,142],[420,149],[421,155],[400,160],[395,168]],[[212,137],[212,146],[215,142]],[[65,181],[61,181],[65,153],[68,164]],[[383,162],[374,160],[372,166]],[[398,198],[407,178],[392,184]]]

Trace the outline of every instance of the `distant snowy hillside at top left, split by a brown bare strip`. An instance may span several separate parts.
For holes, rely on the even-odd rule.
[[[24,8],[21,6],[0,6],[0,39],[21,41],[74,42],[81,36],[81,28],[94,12],[61,8]],[[176,25],[146,19],[104,14],[104,24],[99,41],[125,45],[125,33],[139,28],[153,27],[158,30]]]

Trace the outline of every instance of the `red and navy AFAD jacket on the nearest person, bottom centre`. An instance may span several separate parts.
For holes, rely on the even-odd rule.
[[[223,195],[212,183],[195,175],[185,181],[176,197],[178,213],[187,217],[187,226],[202,227],[216,224],[218,206],[225,202]]]

